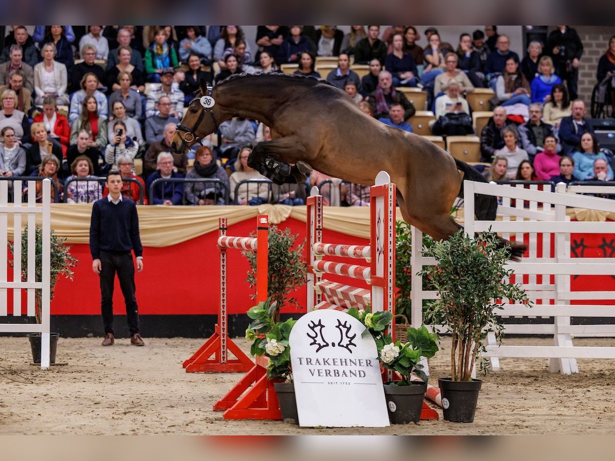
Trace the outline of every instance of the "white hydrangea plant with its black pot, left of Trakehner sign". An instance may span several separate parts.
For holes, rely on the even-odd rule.
[[[269,297],[248,310],[252,323],[245,331],[245,339],[252,341],[250,353],[269,358],[267,377],[276,380],[274,388],[280,403],[283,420],[299,422],[295,387],[293,385],[293,370],[290,365],[290,346],[288,338],[290,330],[296,321],[292,318],[284,322],[275,321],[274,315],[279,315],[277,302]]]

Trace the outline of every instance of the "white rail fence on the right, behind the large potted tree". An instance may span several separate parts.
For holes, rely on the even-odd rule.
[[[590,186],[592,187],[592,186]],[[546,190],[539,190],[546,189]],[[491,228],[501,232],[502,237],[528,244],[529,254],[520,262],[509,262],[514,269],[512,282],[520,283],[535,305],[529,308],[523,304],[512,304],[502,300],[502,315],[505,334],[547,334],[553,335],[553,345],[521,346],[501,345],[498,347],[494,334],[487,339],[486,357],[490,357],[494,371],[499,369],[501,357],[549,358],[549,371],[570,374],[578,372],[576,358],[615,358],[615,347],[575,347],[573,336],[615,336],[615,325],[571,325],[571,317],[598,318],[615,317],[613,291],[571,290],[571,278],[576,275],[614,275],[613,258],[571,258],[571,233],[615,234],[615,223],[571,222],[566,216],[566,207],[585,208],[615,213],[615,200],[576,195],[573,192],[608,193],[609,189],[594,190],[584,186],[570,187],[558,184],[556,192],[550,186],[509,185],[474,183],[464,181],[464,227],[467,233],[483,232]],[[612,189],[611,189],[612,190]],[[476,221],[474,219],[474,194],[502,197],[498,214],[502,221]],[[421,231],[412,228],[412,242],[422,242]],[[423,280],[416,275],[423,266],[435,264],[434,258],[426,258],[420,251],[421,245],[412,246],[412,324],[422,323],[424,299],[435,299],[435,291],[423,290]],[[571,301],[591,301],[587,304],[571,304]],[[507,318],[515,318],[514,323]],[[553,318],[553,323],[537,323],[530,318]],[[525,319],[523,320],[519,319]],[[506,340],[505,340],[506,341]],[[510,342],[514,340],[510,339]],[[506,341],[509,342],[509,341]]]

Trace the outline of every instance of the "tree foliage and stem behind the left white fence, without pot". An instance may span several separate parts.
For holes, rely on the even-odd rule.
[[[73,267],[77,266],[77,259],[73,258],[70,252],[71,247],[65,245],[66,238],[55,235],[54,230],[51,230],[50,235],[50,299],[54,299],[55,284],[58,282],[58,277],[63,275],[70,280],[73,280]],[[11,256],[15,256],[14,242],[9,242],[9,250]],[[42,280],[42,227],[35,227],[35,244],[34,250],[36,259],[34,264],[34,277],[36,282]],[[13,267],[13,261],[10,261]],[[28,277],[28,226],[22,231],[22,281],[25,282]],[[36,323],[41,323],[41,290],[36,290]]]

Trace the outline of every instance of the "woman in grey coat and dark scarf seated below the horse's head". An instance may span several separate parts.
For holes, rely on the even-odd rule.
[[[209,143],[196,149],[194,168],[188,171],[186,179],[220,179],[231,190],[229,176],[216,162]],[[186,183],[186,201],[189,205],[224,205],[224,188],[212,183]]]

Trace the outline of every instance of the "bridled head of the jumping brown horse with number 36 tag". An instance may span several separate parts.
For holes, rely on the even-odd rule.
[[[184,154],[195,143],[202,144],[203,138],[218,131],[218,108],[212,96],[212,87],[204,80],[200,81],[200,92],[188,104],[188,110],[177,125],[173,135],[171,150]]]

